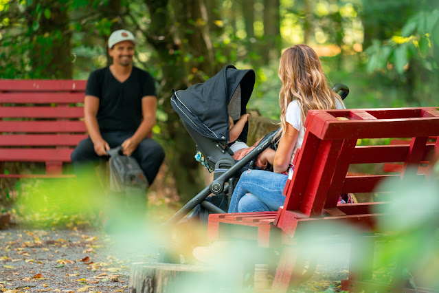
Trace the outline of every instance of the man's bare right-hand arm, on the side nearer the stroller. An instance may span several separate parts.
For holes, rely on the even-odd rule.
[[[124,155],[131,155],[140,142],[153,130],[157,113],[157,98],[155,96],[144,96],[142,98],[143,120],[131,136],[122,143]]]

